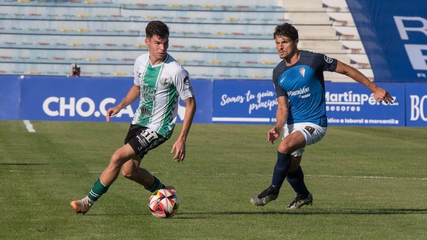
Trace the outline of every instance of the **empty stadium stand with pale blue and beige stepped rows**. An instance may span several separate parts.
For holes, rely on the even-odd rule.
[[[278,4],[279,3],[279,4]],[[0,0],[0,74],[131,77],[145,26],[168,24],[168,52],[193,78],[271,79],[272,32],[289,22],[300,49],[328,54],[374,79],[345,0]],[[335,73],[327,80],[348,81]]]

